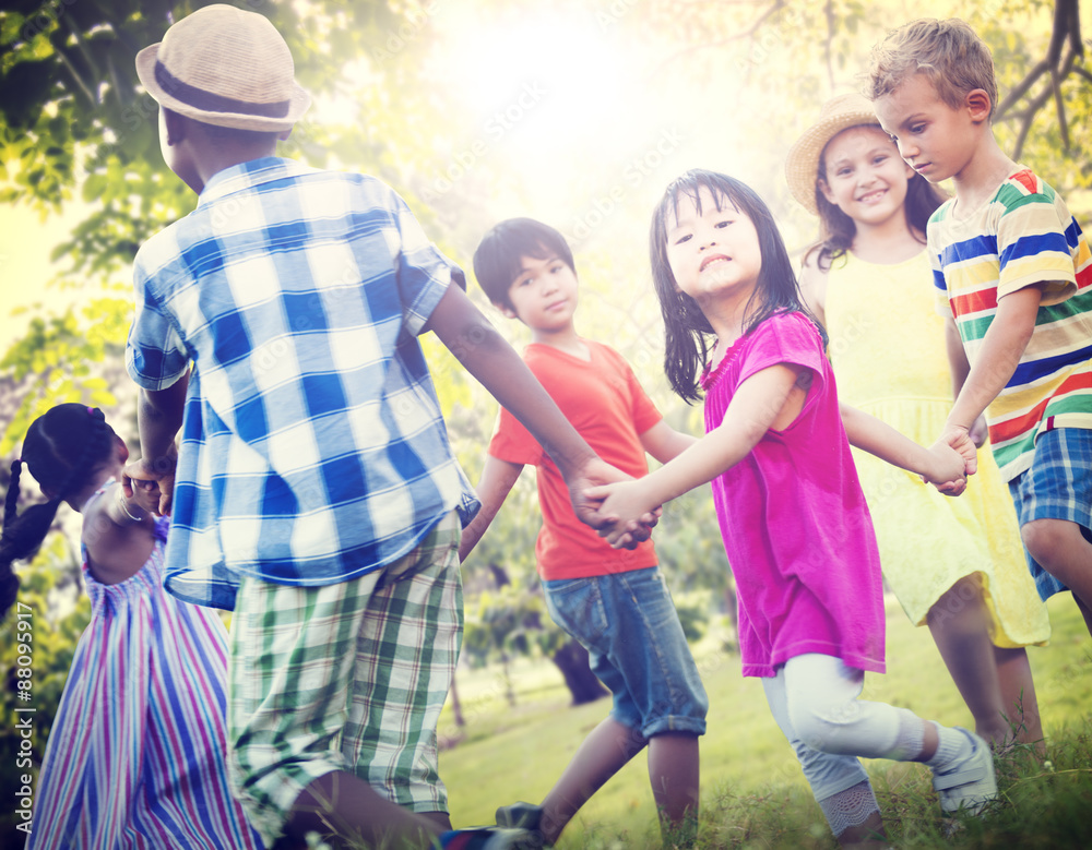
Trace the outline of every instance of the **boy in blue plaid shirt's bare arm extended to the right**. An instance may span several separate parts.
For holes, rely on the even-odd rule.
[[[602,528],[606,520],[585,491],[596,484],[627,480],[629,476],[604,463],[577,433],[554,399],[482,311],[458,286],[449,286],[428,321],[448,349],[520,420],[549,454],[569,487],[573,510],[581,522]],[[630,529],[622,546],[648,539],[648,527]]]

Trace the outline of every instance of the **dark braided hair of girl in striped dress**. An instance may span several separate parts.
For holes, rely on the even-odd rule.
[[[111,429],[97,407],[57,405],[35,419],[23,440],[23,456],[11,465],[11,483],[3,503],[0,534],[0,618],[15,602],[19,579],[12,562],[32,558],[57,516],[61,502],[84,489],[114,451]],[[54,495],[16,515],[22,464]]]

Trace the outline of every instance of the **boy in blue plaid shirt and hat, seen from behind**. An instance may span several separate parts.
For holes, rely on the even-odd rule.
[[[136,255],[126,358],[143,457],[127,475],[173,512],[170,591],[234,608],[235,790],[277,847],[310,829],[507,847],[520,836],[443,833],[436,727],[478,504],[417,336],[434,331],[548,446],[585,522],[600,523],[584,488],[621,476],[391,189],[274,156],[309,98],[264,17],[205,7],[136,68],[164,159],[199,197]]]

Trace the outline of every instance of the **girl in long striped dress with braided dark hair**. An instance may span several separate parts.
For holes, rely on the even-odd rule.
[[[67,502],[83,515],[92,601],[26,847],[260,848],[227,783],[224,624],[163,589],[168,520],[121,492],[128,456],[100,410],[64,404],[34,420],[12,464],[0,570],[37,551]],[[22,464],[49,501],[16,516]]]

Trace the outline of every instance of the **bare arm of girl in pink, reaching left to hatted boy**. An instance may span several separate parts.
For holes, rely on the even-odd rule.
[[[636,481],[589,490],[589,499],[602,500],[600,513],[616,523],[612,532],[603,535],[607,541],[617,548],[618,529],[731,469],[771,427],[783,423],[783,412],[792,414],[787,426],[803,407],[804,393],[797,384],[805,375],[810,378],[810,371],[788,363],[756,372],[739,385],[721,424],[674,460]]]

